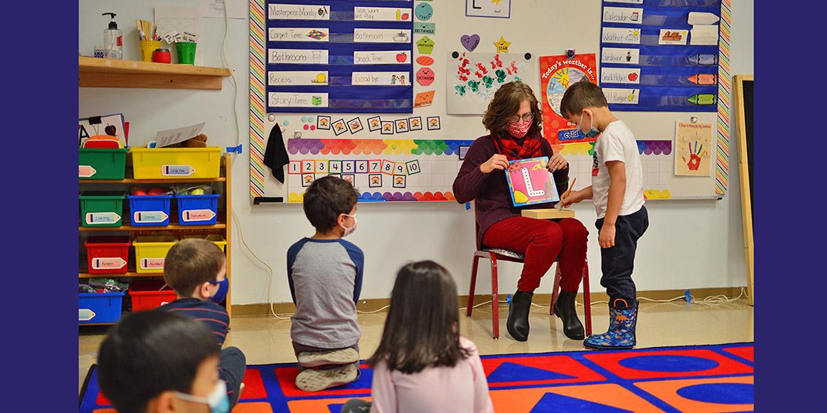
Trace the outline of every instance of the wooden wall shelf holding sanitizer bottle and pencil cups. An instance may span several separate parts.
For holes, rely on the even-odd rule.
[[[139,60],[78,57],[80,88],[164,88],[221,90],[229,69]]]

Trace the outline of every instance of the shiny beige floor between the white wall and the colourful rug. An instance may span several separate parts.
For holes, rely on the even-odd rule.
[[[583,307],[578,306],[583,320]],[[361,357],[368,358],[379,344],[385,311],[360,314],[362,337]],[[543,353],[583,349],[581,341],[566,339],[562,323],[548,315],[548,308],[534,306],[529,317],[531,334],[528,341],[512,339],[505,329],[506,305],[500,306],[500,339],[491,338],[490,304],[477,307],[471,318],[461,311],[462,335],[476,343],[480,354]],[[720,304],[687,304],[686,302],[642,302],[639,311],[638,348],[692,344],[723,344],[753,341],[753,307],[746,299]],[[608,325],[605,304],[592,306],[593,329],[602,333]],[[559,331],[558,331],[559,329]],[[83,386],[88,368],[95,362],[98,345],[106,335],[106,327],[84,326],[79,329],[78,389]],[[294,363],[290,345],[290,320],[275,317],[237,317],[227,344],[237,346],[246,354],[247,363]]]

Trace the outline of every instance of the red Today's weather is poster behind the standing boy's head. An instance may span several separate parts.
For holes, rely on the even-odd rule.
[[[597,84],[595,54],[575,55],[566,59],[565,55],[540,56],[540,90],[543,93],[543,136],[555,144],[572,144],[594,142],[595,138],[586,138],[577,126],[560,114],[560,102],[563,93],[572,83],[588,79]]]

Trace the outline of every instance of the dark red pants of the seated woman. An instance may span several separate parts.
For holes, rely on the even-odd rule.
[[[577,292],[583,279],[588,235],[586,226],[574,218],[549,221],[513,216],[491,225],[482,243],[525,254],[518,291],[533,292],[540,287],[540,278],[559,259],[560,289]]]

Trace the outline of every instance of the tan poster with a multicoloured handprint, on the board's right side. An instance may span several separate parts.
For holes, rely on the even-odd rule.
[[[708,177],[712,174],[712,124],[676,122],[675,174]]]

